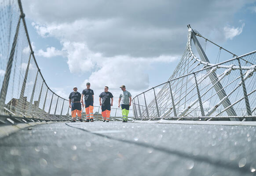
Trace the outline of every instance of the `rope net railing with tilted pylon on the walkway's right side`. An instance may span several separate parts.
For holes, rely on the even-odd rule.
[[[168,81],[132,99],[135,119],[254,120],[256,51],[237,56],[188,27],[186,49]],[[219,47],[217,64],[196,36]],[[229,60],[218,63],[221,55]]]

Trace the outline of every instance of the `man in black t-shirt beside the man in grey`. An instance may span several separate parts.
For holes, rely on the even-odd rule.
[[[110,110],[111,107],[113,106],[113,95],[111,92],[108,92],[109,87],[105,86],[104,88],[104,92],[102,92],[99,95],[99,105],[101,106],[101,114],[102,114],[102,118],[103,118],[103,122],[109,122],[110,120]],[[111,99],[111,103],[110,103],[110,99]],[[101,101],[102,100],[102,101]]]

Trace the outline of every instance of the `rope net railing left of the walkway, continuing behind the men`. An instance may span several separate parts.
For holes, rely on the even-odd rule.
[[[0,115],[71,120],[69,100],[48,87],[37,65],[20,0],[0,1],[0,24]],[[101,119],[100,107],[94,109]],[[110,116],[121,120],[121,109],[112,108]]]

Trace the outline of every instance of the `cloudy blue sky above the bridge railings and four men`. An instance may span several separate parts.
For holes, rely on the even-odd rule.
[[[121,85],[134,97],[168,81],[188,24],[238,56],[256,50],[256,0],[22,0],[22,7],[48,86],[68,99],[90,82],[95,105],[104,86],[117,107]]]

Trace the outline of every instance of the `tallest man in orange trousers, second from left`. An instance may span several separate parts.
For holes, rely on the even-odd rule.
[[[85,113],[86,113],[86,120],[85,122],[93,122],[93,100],[94,100],[94,93],[93,90],[90,89],[91,84],[88,82],[86,83],[86,87],[81,96],[81,103],[85,106]],[[83,103],[83,97],[84,97],[84,103]]]

